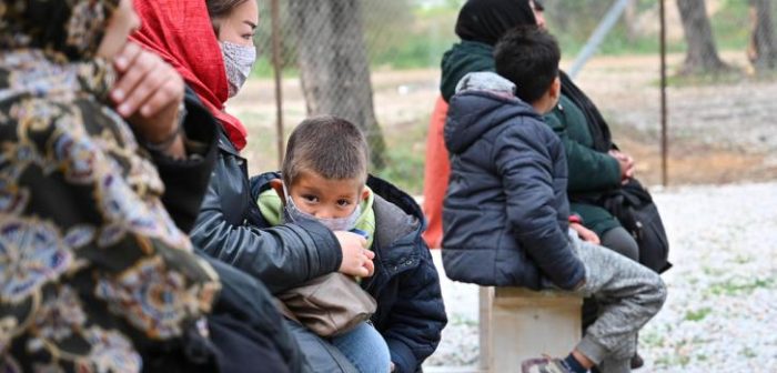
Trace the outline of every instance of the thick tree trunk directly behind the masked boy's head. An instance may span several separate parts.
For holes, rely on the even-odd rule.
[[[309,114],[332,114],[359,125],[374,171],[385,165],[375,119],[360,0],[291,0],[302,89]]]

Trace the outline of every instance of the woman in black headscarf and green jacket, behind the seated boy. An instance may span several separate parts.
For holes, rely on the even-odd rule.
[[[519,26],[544,27],[542,11],[543,6],[536,0],[467,1],[456,22],[456,34],[462,41],[443,56],[441,93],[445,102],[455,93],[456,84],[467,73],[494,71],[493,46],[504,32]],[[638,260],[638,246],[620,223],[603,208],[584,202],[594,199],[596,194],[619,188],[622,182],[633,175],[634,161],[615,149],[607,123],[588,97],[566,73],[561,72],[561,78],[562,99],[546,120],[562,138],[566,149],[572,211],[581,218],[579,221],[573,221],[573,226],[583,239],[602,243]],[[444,121],[443,118],[435,114],[433,121]],[[442,225],[442,195],[447,186],[450,169],[446,163],[447,153],[444,159],[441,157],[440,148],[444,149],[444,143],[440,145],[435,141],[437,135],[442,139],[443,125],[444,122],[433,122],[427,141],[424,211],[430,220],[430,230],[425,235],[427,241],[432,241],[430,244],[438,243],[435,239],[442,238],[442,226],[437,225]],[[438,180],[444,180],[444,185],[440,185]]]

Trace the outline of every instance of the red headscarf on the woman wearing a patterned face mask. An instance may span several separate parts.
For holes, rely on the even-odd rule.
[[[172,64],[242,150],[248,132],[223,110],[226,72],[205,0],[134,0],[134,6],[143,27],[130,39]]]

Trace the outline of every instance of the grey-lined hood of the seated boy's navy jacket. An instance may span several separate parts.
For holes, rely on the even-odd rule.
[[[457,84],[445,123],[445,145],[453,154],[466,151],[484,133],[518,117],[542,117],[514,95],[515,84],[494,72],[473,72]],[[455,103],[455,104],[454,104]]]

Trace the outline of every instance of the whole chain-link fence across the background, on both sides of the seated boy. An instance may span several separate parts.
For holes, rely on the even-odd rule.
[[[228,104],[250,129],[245,155],[252,172],[276,169],[279,161],[271,1],[260,0],[261,58],[253,79]],[[373,159],[377,173],[420,194],[440,60],[457,41],[453,29],[462,2],[278,0],[284,135],[309,112],[352,119],[379,155]],[[614,2],[544,1],[564,68]],[[666,9],[669,181],[774,178],[775,6],[770,0],[666,0]],[[575,79],[649,184],[660,182],[658,10],[655,0],[630,1]]]

